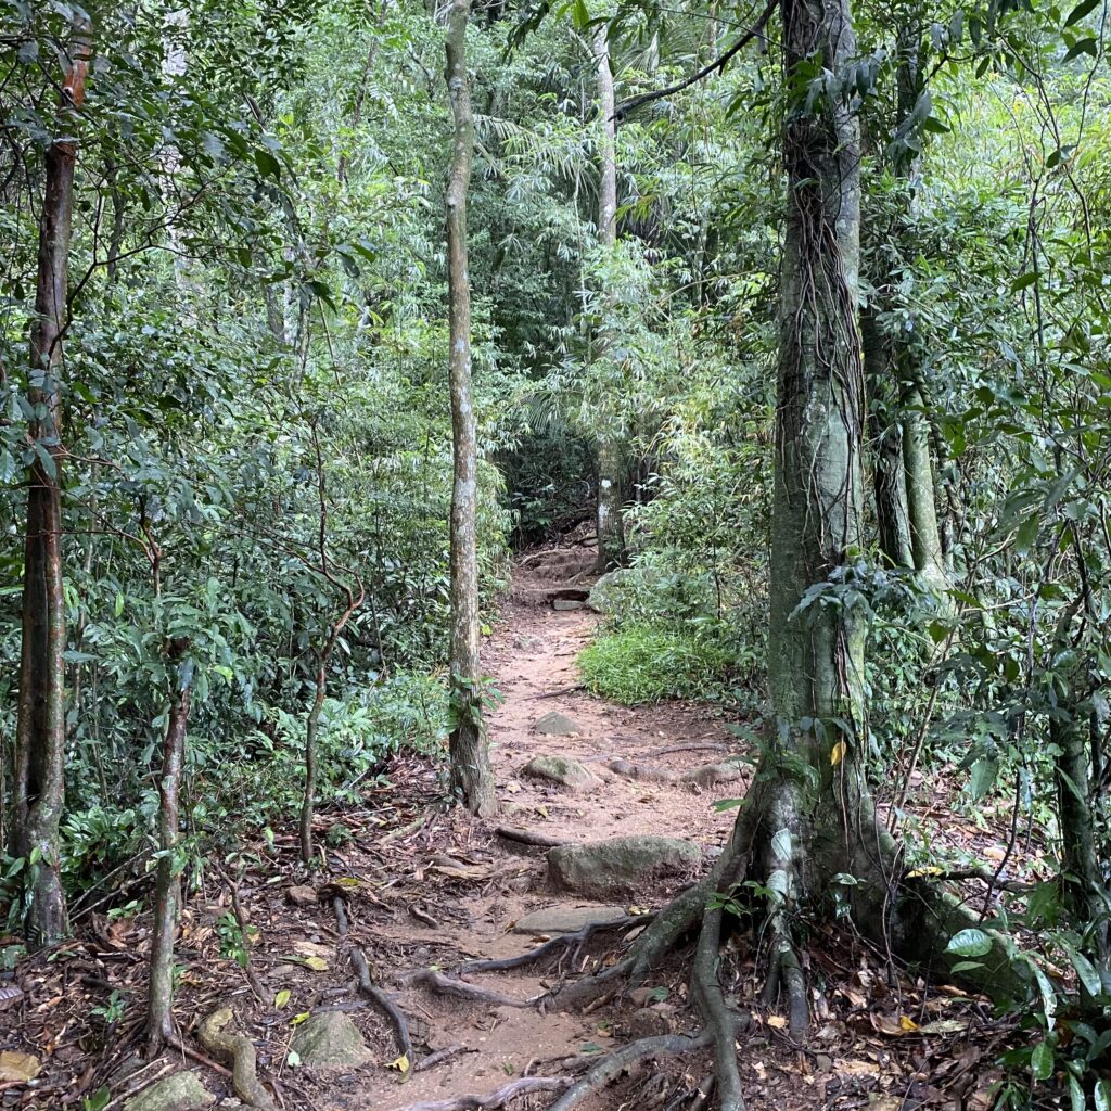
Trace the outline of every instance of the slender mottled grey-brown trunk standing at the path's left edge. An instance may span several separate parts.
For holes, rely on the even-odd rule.
[[[452,0],[448,12],[448,96],[454,120],[448,181],[449,378],[454,481],[451,492],[451,788],[480,815],[498,809],[482,722],[479,665],[478,436],[471,398],[471,284],[467,271],[467,191],[474,150],[467,77],[470,0]]]

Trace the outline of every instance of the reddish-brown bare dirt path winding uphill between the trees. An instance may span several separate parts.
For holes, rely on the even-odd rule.
[[[493,830],[499,823],[575,842],[659,834],[687,838],[712,849],[728,835],[735,812],[719,813],[711,803],[715,798],[740,793],[742,784],[733,782],[702,791],[682,782],[630,780],[604,767],[610,758],[623,758],[679,774],[721,760],[727,751],[737,748],[737,741],[707,707],[674,703],[627,708],[579,689],[575,657],[589,643],[598,617],[584,608],[556,610],[550,594],[569,583],[581,585],[582,572],[592,557],[589,549],[553,549],[547,559],[532,558],[518,568],[510,597],[483,652],[486,670],[504,699],[489,719],[502,813],[490,822],[451,819],[454,847],[447,857],[463,861],[464,868],[472,868],[482,879],[468,884],[451,883],[448,878],[448,887],[422,901],[422,907],[429,908],[444,927],[450,921],[450,928],[429,930],[400,907],[391,915],[392,938],[408,950],[417,968],[422,958],[426,964],[429,962],[430,951],[434,951],[438,967],[448,972],[453,963],[469,957],[502,958],[527,952],[540,939],[512,932],[523,914],[541,908],[591,905],[590,900],[573,893],[551,890],[543,850],[496,835]],[[538,733],[533,728],[537,720],[552,710],[572,719],[580,732],[570,737]],[[571,791],[523,777],[522,767],[540,754],[565,755],[585,763],[598,778],[598,785]],[[451,860],[443,851],[431,859],[450,870]],[[443,883],[443,874],[433,865],[428,879]],[[674,885],[672,881],[638,890],[637,905],[662,904]],[[617,902],[620,905],[620,900]],[[434,950],[428,947],[433,934]],[[615,941],[611,937],[599,943],[604,952]],[[411,949],[414,944],[418,948]],[[549,978],[543,977],[544,971],[526,968],[468,979],[528,999],[541,994],[552,982],[550,970]],[[419,1038],[428,1047],[419,1057],[459,1044],[470,1052],[428,1072],[418,1072],[403,1085],[398,1085],[390,1073],[370,1070],[364,1074],[367,1085],[361,1098],[332,1105],[402,1111],[422,1101],[482,1094],[521,1077],[527,1068],[531,1067],[533,1075],[542,1073],[544,1061],[578,1057],[584,1047],[620,1044],[628,1033],[623,1012],[634,1009],[613,1004],[589,1015],[544,1015],[531,1008],[491,1008],[411,988],[402,992],[400,1001],[416,1019],[414,1043]],[[547,1107],[553,1098],[536,1097],[527,1105]],[[590,1104],[608,1105],[608,1100]]]

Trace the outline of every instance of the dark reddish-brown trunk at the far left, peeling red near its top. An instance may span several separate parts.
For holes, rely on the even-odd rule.
[[[39,220],[39,268],[31,326],[28,400],[34,411],[28,476],[23,558],[23,640],[16,727],[13,842],[17,855],[34,858],[24,929],[32,947],[66,934],[66,900],[58,874],[58,824],[64,801],[66,603],[62,594],[60,373],[69,284],[70,230],[77,144],[74,116],[84,100],[89,33],[79,29],[62,86],[59,138],[46,157]],[[61,138],[66,137],[66,138]]]

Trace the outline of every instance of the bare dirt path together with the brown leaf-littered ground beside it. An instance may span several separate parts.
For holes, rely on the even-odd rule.
[[[595,618],[582,609],[553,610],[550,595],[556,584],[581,584],[591,558],[585,549],[532,557],[520,569],[487,645],[487,669],[506,698],[490,724],[504,811],[498,821],[569,841],[681,835],[712,851],[732,821],[731,811],[719,813],[712,802],[743,793],[743,782],[703,790],[631,780],[605,767],[608,760],[623,758],[681,773],[720,760],[735,738],[705,707],[630,710],[577,689],[574,657]],[[569,715],[581,731],[567,738],[538,735],[533,724],[550,710]],[[573,757],[601,782],[570,792],[522,777],[522,765],[540,752]],[[422,1101],[487,1093],[524,1075],[558,1074],[583,1057],[597,1059],[644,1033],[697,1025],[687,1005],[688,969],[681,954],[659,970],[648,985],[653,989],[649,998],[613,998],[589,1014],[490,1007],[408,985],[408,974],[421,968],[450,972],[469,958],[523,952],[539,939],[511,932],[522,914],[585,901],[549,889],[543,850],[499,837],[497,822],[444,811],[440,770],[432,761],[401,754],[384,771],[388,782],[369,790],[362,808],[318,819],[332,882],[317,904],[294,907],[289,899],[290,888],[303,883],[292,829],[279,834],[272,849],[252,847],[257,858],[239,881],[239,900],[258,931],[250,963],[260,999],[252,995],[243,970],[221,955],[233,929],[231,893],[209,875],[203,898],[187,908],[179,945],[184,968],[176,1015],[184,1044],[196,1048],[200,1020],[230,1004],[236,1027],[256,1043],[260,1075],[272,1083],[283,1109],[402,1111]],[[923,799],[923,808],[932,801]],[[971,843],[981,835],[962,837]],[[980,848],[990,849],[1000,838],[989,829],[981,840]],[[319,888],[324,878],[314,882]],[[671,893],[673,884],[649,885],[638,890],[635,907],[625,909],[657,908]],[[337,894],[350,918],[348,939],[339,937],[331,905]],[[963,999],[944,985],[928,991],[912,980],[892,980],[882,954],[851,938],[820,934],[803,952],[813,984],[813,1037],[807,1045],[795,1045],[774,1008],[757,1002],[760,941],[751,932],[734,934],[723,959],[727,991],[753,1008],[739,1052],[754,1111],[990,1105],[998,1073],[989,1062],[1010,1028],[998,1025],[984,1002]],[[352,943],[366,951],[374,981],[409,1015],[418,1070],[431,1053],[453,1048],[447,1061],[400,1082],[399,1071],[390,1068],[397,1057],[390,1028],[353,989]],[[612,961],[621,944],[620,934],[603,934],[558,964],[473,979],[523,1001],[561,977]],[[131,1091],[183,1063],[180,1053],[153,1064],[138,1055],[148,950],[146,919],[94,915],[49,962],[24,961],[12,980],[0,981],[0,989],[10,984],[22,990],[6,1008],[0,994],[0,1048],[44,1062],[42,1075],[30,1085],[0,1081],[0,1105],[83,1108],[86,1098],[107,1087],[108,1105],[114,1108]],[[331,1078],[289,1067],[298,1017],[322,1009],[350,1014],[373,1063]],[[193,1065],[213,1092],[229,1097],[226,1073]],[[701,1054],[650,1064],[582,1107],[693,1109],[700,1105],[698,1085],[708,1070]],[[543,1108],[552,1099],[528,1097],[514,1107]]]

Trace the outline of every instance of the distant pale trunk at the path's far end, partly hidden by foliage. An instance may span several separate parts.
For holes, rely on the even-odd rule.
[[[598,241],[613,247],[618,238],[618,167],[617,124],[613,73],[610,70],[610,42],[607,28],[594,32],[594,66],[598,72],[599,113],[599,183]],[[605,337],[600,337],[604,349]],[[615,567],[624,558],[624,523],[621,517],[623,497],[621,444],[612,432],[598,437],[598,565],[602,571]]]

